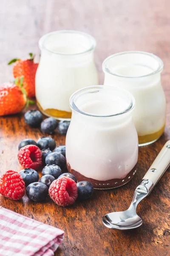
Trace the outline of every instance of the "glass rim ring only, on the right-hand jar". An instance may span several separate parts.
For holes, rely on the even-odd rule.
[[[112,72],[108,67],[107,67],[107,62],[118,56],[118,55],[125,55],[125,54],[143,54],[143,55],[147,55],[147,56],[150,56],[151,58],[153,58],[154,60],[156,60],[158,62],[158,68],[156,70],[153,70],[153,72],[151,73],[148,73],[147,75],[142,75],[142,76],[122,76],[122,75],[119,75],[117,73],[114,73]],[[159,58],[158,56],[154,55],[153,53],[150,53],[150,52],[142,52],[142,51],[126,51],[126,52],[118,52],[118,53],[115,53],[115,54],[112,54],[110,56],[108,56],[107,58],[105,58],[105,60],[103,61],[102,63],[102,70],[104,73],[109,73],[113,76],[117,76],[117,77],[120,77],[120,78],[126,78],[126,79],[135,79],[135,78],[142,78],[142,77],[147,77],[147,76],[151,76],[151,75],[155,75],[156,73],[159,73],[163,70],[163,67],[164,67],[164,64],[163,64],[163,61],[161,60],[161,58]]]

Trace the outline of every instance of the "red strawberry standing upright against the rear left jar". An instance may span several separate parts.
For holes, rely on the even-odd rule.
[[[34,55],[29,53],[30,58],[25,60],[20,60],[17,58],[12,59],[8,62],[8,65],[14,63],[13,75],[14,78],[23,79],[23,88],[27,92],[28,97],[35,96],[35,74],[37,71],[38,63],[34,63]]]

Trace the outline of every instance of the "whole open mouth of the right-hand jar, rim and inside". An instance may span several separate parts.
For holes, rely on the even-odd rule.
[[[148,52],[120,52],[106,58],[102,69],[105,74],[111,74],[118,79],[147,80],[153,79],[153,76],[160,76],[163,62],[159,57]]]

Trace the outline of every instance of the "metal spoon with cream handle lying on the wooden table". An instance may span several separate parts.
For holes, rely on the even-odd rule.
[[[111,229],[129,230],[142,225],[142,219],[136,213],[136,207],[150,194],[153,187],[170,165],[170,140],[165,143],[150,169],[137,186],[129,209],[124,212],[111,212],[102,218],[103,224]]]

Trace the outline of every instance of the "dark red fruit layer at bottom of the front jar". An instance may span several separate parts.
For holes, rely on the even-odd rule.
[[[68,172],[70,172],[77,178],[77,182],[82,181],[82,180],[90,181],[93,184],[94,189],[113,189],[113,188],[116,188],[116,187],[126,184],[135,175],[136,167],[137,167],[137,164],[126,175],[126,177],[123,177],[122,179],[103,180],[102,181],[102,180],[94,180],[94,179],[85,177],[84,175],[81,175],[79,172],[75,171],[74,169],[71,169],[70,164],[67,163]]]

